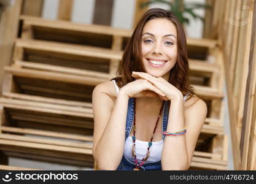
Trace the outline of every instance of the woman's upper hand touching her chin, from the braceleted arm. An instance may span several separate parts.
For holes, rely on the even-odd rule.
[[[153,86],[157,87],[158,90],[165,94],[165,100],[183,98],[182,93],[162,77],[153,77],[152,75],[144,72],[133,72],[131,76],[134,78],[145,79],[152,83]]]

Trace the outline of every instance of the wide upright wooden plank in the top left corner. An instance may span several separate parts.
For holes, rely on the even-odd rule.
[[[14,40],[18,34],[18,18],[22,1],[17,0],[14,6],[4,6],[1,10],[0,20],[0,94],[2,93],[2,79],[4,66],[10,64]],[[7,29],[8,28],[8,29]]]

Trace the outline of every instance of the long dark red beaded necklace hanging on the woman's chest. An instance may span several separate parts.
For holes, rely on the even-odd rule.
[[[163,104],[161,105],[161,109],[160,112],[158,114],[158,118],[157,118],[157,122],[155,123],[155,128],[153,129],[153,135],[150,139],[149,142],[149,146],[147,147],[147,153],[145,154],[144,158],[142,158],[141,163],[138,164],[138,159],[136,157],[136,147],[135,147],[135,142],[136,142],[136,99],[134,98],[134,118],[133,118],[133,146],[131,147],[131,155],[134,157],[134,163],[135,163],[135,168],[133,169],[133,171],[139,171],[141,166],[144,164],[145,161],[147,161],[147,159],[149,158],[149,148],[152,146],[152,140],[153,140],[153,136],[155,136],[155,131],[157,130],[157,125],[158,125],[158,121],[160,120],[161,117],[161,112],[163,110],[163,105],[165,104],[165,101],[163,101]]]

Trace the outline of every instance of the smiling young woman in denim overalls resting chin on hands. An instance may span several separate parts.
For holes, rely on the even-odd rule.
[[[186,37],[172,12],[145,13],[118,74],[93,90],[98,169],[187,170],[207,107],[188,82]]]

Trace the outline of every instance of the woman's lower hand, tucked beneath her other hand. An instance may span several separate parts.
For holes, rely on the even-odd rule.
[[[165,99],[165,94],[156,86],[145,79],[134,80],[123,86],[120,92],[125,93],[129,98],[153,97]]]

